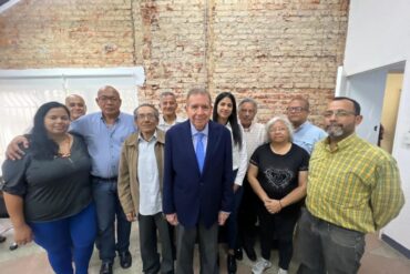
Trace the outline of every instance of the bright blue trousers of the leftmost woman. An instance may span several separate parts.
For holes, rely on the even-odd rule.
[[[57,274],[86,274],[96,236],[95,206],[90,204],[80,213],[58,221],[29,223],[34,241],[49,256]]]

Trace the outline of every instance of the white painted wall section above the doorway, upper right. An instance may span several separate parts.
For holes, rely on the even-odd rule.
[[[350,1],[345,50],[347,75],[409,60],[409,0]]]

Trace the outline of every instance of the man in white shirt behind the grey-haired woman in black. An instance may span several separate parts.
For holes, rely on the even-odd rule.
[[[264,142],[266,142],[266,131],[265,125],[255,122],[255,116],[257,113],[257,103],[254,99],[245,98],[239,102],[238,105],[238,116],[242,126],[244,128],[244,138],[246,142],[246,151],[248,155],[247,162],[254,151]],[[245,250],[246,255],[250,261],[256,261],[256,253],[254,250],[255,236],[256,236],[256,203],[258,199],[250,187],[247,181],[247,175],[245,175],[244,182],[244,196],[242,199],[238,223],[239,223],[239,243]],[[239,245],[240,246],[240,245]],[[236,258],[242,258],[242,248],[236,251]]]

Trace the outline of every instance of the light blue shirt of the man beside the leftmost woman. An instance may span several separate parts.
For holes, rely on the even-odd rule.
[[[135,132],[134,116],[120,113],[114,124],[106,124],[102,113],[95,112],[73,121],[70,131],[83,136],[91,156],[91,174],[115,177],[119,174],[121,146]]]

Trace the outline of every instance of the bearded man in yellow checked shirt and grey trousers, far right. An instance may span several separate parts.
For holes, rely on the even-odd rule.
[[[328,138],[310,158],[299,220],[299,274],[357,273],[365,234],[394,219],[404,197],[393,158],[358,138],[360,105],[335,98],[325,112]]]

